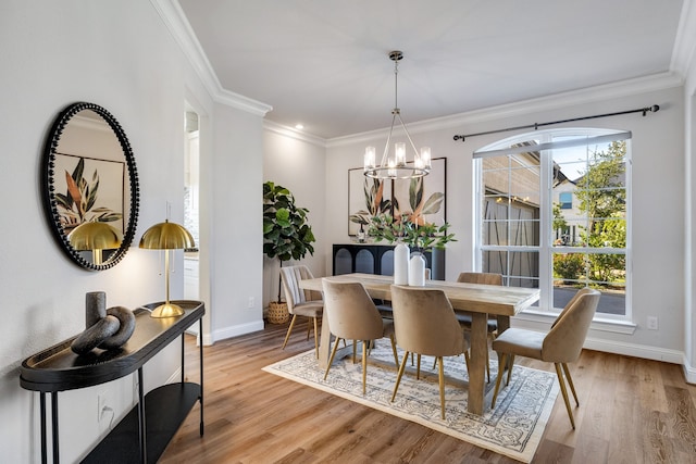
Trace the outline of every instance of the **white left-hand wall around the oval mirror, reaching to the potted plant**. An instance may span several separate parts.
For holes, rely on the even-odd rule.
[[[39,397],[20,387],[22,360],[84,329],[88,291],[103,290],[109,306],[132,309],[164,297],[160,253],[138,249],[137,240],[164,220],[167,202],[171,220],[183,222],[185,99],[201,114],[207,137],[201,277],[209,339],[262,326],[260,303],[247,310],[247,296],[261,299],[261,212],[248,199],[260,197],[262,120],[212,100],[151,2],[3,1],[0,61],[0,449],[3,462],[30,463],[40,457]],[[45,138],[59,111],[75,101],[102,105],[121,123],[140,180],[135,247],[103,272],[84,271],[63,255],[40,201]],[[247,164],[231,170],[239,160]],[[182,258],[177,252],[172,298],[183,296]],[[174,343],[146,365],[146,390],[175,376],[178,363]],[[130,376],[59,394],[62,462],[78,461],[97,441],[102,391],[116,416],[133,404]]]

